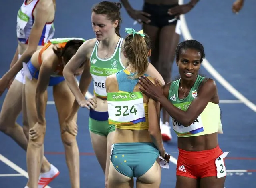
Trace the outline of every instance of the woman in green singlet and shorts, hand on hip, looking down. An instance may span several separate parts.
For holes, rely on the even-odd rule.
[[[79,106],[90,109],[91,142],[97,160],[105,173],[105,187],[107,187],[110,151],[115,134],[115,126],[108,123],[105,80],[107,76],[127,67],[128,62],[123,54],[125,41],[119,33],[120,8],[120,3],[108,1],[100,2],[93,7],[91,21],[96,38],[87,40],[63,70],[65,80]],[[73,74],[85,61],[85,58],[90,59],[90,64],[84,69],[87,71],[87,78],[80,80],[80,84],[83,83],[85,87],[83,90],[79,90]],[[151,64],[149,64],[147,74],[164,83],[159,72]],[[83,93],[87,91],[91,78],[94,81],[94,96],[85,100]],[[75,114],[77,110],[78,108],[72,113]]]

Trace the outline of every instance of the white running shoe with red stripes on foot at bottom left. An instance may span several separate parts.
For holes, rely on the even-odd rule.
[[[59,174],[60,174],[60,172],[58,171],[58,169],[51,164],[49,172],[44,172],[44,173],[40,174],[39,182],[38,182],[38,188],[46,187]]]

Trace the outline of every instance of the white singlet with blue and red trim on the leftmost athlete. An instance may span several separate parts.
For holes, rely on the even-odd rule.
[[[24,0],[20,10],[18,11],[17,16],[17,38],[18,41],[28,44],[28,38],[34,24],[34,16],[33,12],[36,8],[40,0],[33,0],[29,4],[27,4],[27,0]],[[55,32],[55,28],[53,25],[53,21],[50,23],[46,23],[43,30],[42,35],[40,37],[40,41],[38,46],[43,46],[45,43],[50,40]]]

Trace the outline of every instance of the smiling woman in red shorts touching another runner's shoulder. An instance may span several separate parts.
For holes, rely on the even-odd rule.
[[[160,102],[173,118],[179,148],[176,188],[223,188],[226,178],[228,152],[223,153],[218,144],[222,124],[217,86],[198,74],[204,57],[200,42],[183,41],[176,48],[179,80],[163,88],[146,77],[139,81],[141,91]]]

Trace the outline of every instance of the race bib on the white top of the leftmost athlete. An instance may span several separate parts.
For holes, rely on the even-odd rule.
[[[21,11],[21,9],[18,11],[17,16],[17,37],[18,38],[26,38],[25,34],[25,27],[28,24],[29,17]]]

